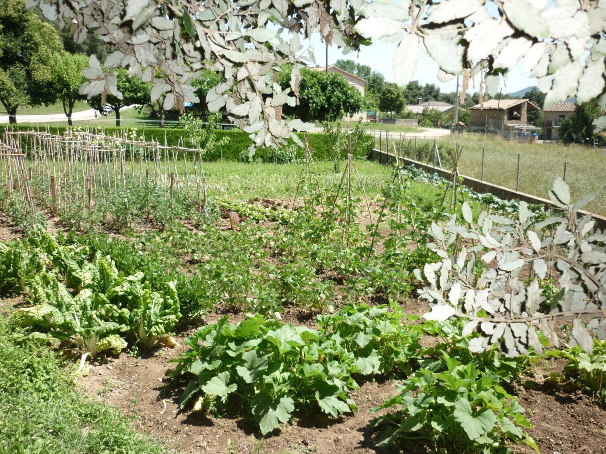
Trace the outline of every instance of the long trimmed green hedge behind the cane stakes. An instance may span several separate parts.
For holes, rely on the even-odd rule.
[[[4,135],[4,130],[7,128],[18,129],[20,131],[27,130],[35,130],[35,125],[1,125],[0,126],[0,134]],[[43,126],[41,125],[40,130],[43,130]],[[65,129],[69,128],[68,126],[53,126],[50,127],[50,132],[53,134],[59,133],[63,134]],[[101,133],[102,131],[105,134],[112,135],[117,131],[124,132],[128,127],[104,127],[98,128],[97,132]],[[166,142],[168,145],[176,146],[179,144],[179,140],[183,137],[183,130],[181,128],[148,128],[143,129],[142,127],[137,127],[137,134],[141,134],[145,131],[145,140],[156,139],[160,143],[164,143],[164,137],[166,137]],[[296,133],[299,137],[303,137],[302,133]],[[228,145],[222,147],[221,150],[216,150],[212,154],[205,154],[204,159],[207,161],[214,161],[219,159],[225,160],[238,160],[238,157],[242,153],[243,150],[247,150],[250,146],[251,139],[248,137],[247,133],[241,130],[216,130],[215,131],[216,140],[222,139],[222,137],[229,137]],[[309,145],[311,150],[313,150],[313,156],[318,160],[330,160],[330,152],[327,150],[325,145],[325,134],[324,133],[310,133],[309,134]],[[355,157],[358,158],[367,158],[370,154],[370,149],[372,146],[372,140],[368,140],[368,146],[364,147],[361,150],[357,150],[354,153]],[[294,145],[292,139],[288,139],[288,145]],[[299,148],[299,147],[298,147]],[[27,151],[27,150],[26,150]],[[297,152],[298,157],[303,157],[303,150],[299,148]],[[264,159],[267,156],[267,150],[264,148],[260,148],[256,151],[256,156],[260,159]]]

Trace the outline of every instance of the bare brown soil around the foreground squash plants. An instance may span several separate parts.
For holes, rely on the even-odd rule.
[[[427,311],[424,303],[410,300],[403,304],[407,312]],[[215,323],[225,314],[211,312],[207,323]],[[231,314],[237,323],[242,314]],[[315,327],[313,320],[303,321],[299,314],[285,314],[285,321]],[[419,447],[380,450],[373,446],[368,410],[393,395],[395,381],[368,381],[351,393],[358,412],[342,418],[322,413],[296,413],[289,424],[282,424],[271,435],[263,437],[247,408],[222,415],[182,411],[179,395],[186,383],[173,384],[165,372],[175,366],[169,361],[187,350],[185,335],[177,338],[178,346],[158,349],[152,354],[135,357],[124,352],[118,358],[104,358],[90,366],[88,375],[78,381],[85,394],[118,407],[133,417],[137,429],[155,436],[166,446],[184,453],[393,453],[431,452]],[[422,340],[423,343],[423,340]],[[561,372],[562,360],[542,360],[533,368],[519,389],[515,390],[533,424],[529,431],[541,453],[604,454],[606,453],[606,411],[578,390],[564,389],[545,380],[552,372]],[[255,450],[262,446],[260,450]],[[511,446],[514,452],[531,454],[527,446]]]

